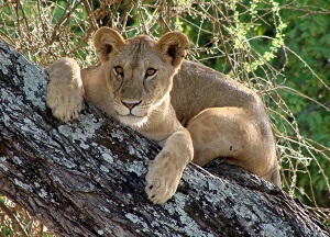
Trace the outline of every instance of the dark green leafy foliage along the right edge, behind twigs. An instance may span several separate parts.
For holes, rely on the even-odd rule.
[[[284,2],[288,3],[289,1]],[[298,55],[298,57],[294,54],[288,55],[284,74],[286,76],[285,86],[299,91],[304,97],[294,95],[287,91],[282,91],[282,93],[295,114],[301,136],[330,147],[330,2],[327,0],[297,2],[301,5],[312,7],[315,12],[296,11],[295,8],[288,8],[282,12],[283,21],[288,24],[284,31],[286,45]],[[321,12],[321,9],[327,11]],[[276,67],[276,64],[280,64],[280,61],[274,59],[272,64]],[[327,154],[329,157],[329,151]],[[329,179],[329,159],[319,159],[319,166],[324,169]],[[319,166],[317,162],[310,162],[311,183],[309,183],[307,176],[299,176],[298,182],[300,187],[310,184],[316,187],[316,196],[320,200],[320,204],[330,207],[329,185],[321,178]]]

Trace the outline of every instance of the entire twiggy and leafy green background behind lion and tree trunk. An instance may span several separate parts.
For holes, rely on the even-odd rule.
[[[0,0],[0,41],[37,65],[69,56],[86,67],[98,61],[91,37],[100,26],[155,40],[182,31],[188,59],[264,99],[283,189],[330,226],[329,19],[329,0]],[[6,196],[0,235],[53,236]]]

